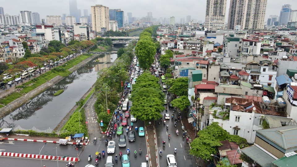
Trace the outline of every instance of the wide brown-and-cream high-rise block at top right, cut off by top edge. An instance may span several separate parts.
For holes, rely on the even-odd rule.
[[[231,0],[228,28],[234,30],[236,25],[240,29],[264,28],[267,0]]]

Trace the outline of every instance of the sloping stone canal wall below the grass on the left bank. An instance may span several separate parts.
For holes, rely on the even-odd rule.
[[[91,61],[92,59],[96,58],[97,56],[98,56],[98,54],[94,54],[94,55],[92,55],[92,56],[84,59],[82,62],[80,62],[77,65],[75,65],[75,66],[71,67],[70,69],[68,69],[68,71],[70,71],[71,73],[73,73],[74,71],[76,71],[80,67],[84,66],[89,61]],[[40,93],[44,92],[46,89],[54,86],[54,84],[60,82],[64,78],[65,77],[62,77],[62,76],[56,76],[53,79],[50,79],[46,83],[43,83],[39,87],[35,88],[34,90],[26,93],[23,96],[20,96],[18,99],[12,101],[8,105],[2,107],[1,108],[1,111],[0,111],[0,119],[3,118],[3,117],[5,117],[6,115],[10,114],[11,111],[14,111],[15,109],[17,109],[20,106],[24,105],[28,100],[30,100],[33,97],[35,97],[35,96],[39,95]]]

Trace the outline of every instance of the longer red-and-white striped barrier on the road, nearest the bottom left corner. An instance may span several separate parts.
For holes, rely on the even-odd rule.
[[[0,156],[12,156],[12,157],[22,157],[22,158],[36,158],[36,159],[46,159],[46,160],[59,160],[59,161],[78,161],[78,158],[61,156],[48,156],[48,155],[37,155],[37,154],[20,154],[13,152],[0,152]]]

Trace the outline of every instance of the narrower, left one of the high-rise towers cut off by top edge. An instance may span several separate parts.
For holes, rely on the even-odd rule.
[[[225,29],[227,0],[207,0],[204,26],[209,31]]]

